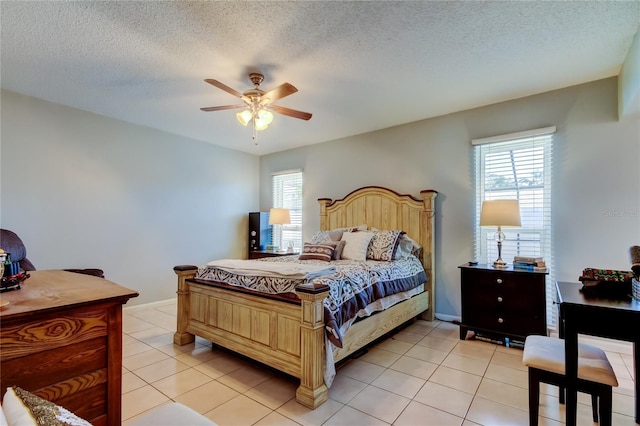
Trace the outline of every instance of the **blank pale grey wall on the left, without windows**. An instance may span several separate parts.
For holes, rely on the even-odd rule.
[[[139,304],[175,297],[175,265],[246,255],[257,156],[1,95],[0,225],[38,269],[102,268]]]

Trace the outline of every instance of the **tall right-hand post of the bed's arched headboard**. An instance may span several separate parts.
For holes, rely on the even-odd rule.
[[[422,314],[422,319],[433,321],[436,312],[435,199],[438,196],[438,191],[427,189],[420,191],[420,195],[424,204],[420,239],[429,242],[429,247],[422,247],[422,264],[427,273],[427,287],[429,288],[429,309]]]

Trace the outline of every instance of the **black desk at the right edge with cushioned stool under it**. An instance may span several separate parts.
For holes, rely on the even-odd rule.
[[[640,302],[628,297],[606,298],[581,291],[581,283],[557,282],[559,334],[565,339],[567,374],[566,423],[576,424],[578,334],[633,342],[635,420],[640,423]]]

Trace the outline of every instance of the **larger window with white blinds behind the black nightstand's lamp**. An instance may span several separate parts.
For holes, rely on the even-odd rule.
[[[472,141],[475,167],[475,256],[492,264],[498,257],[496,228],[480,227],[484,200],[516,199],[522,227],[502,228],[502,258],[543,257],[547,275],[547,324],[555,326],[555,279],[551,243],[551,190],[555,127]]]

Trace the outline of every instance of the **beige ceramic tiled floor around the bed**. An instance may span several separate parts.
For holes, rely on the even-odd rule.
[[[458,327],[418,321],[338,369],[329,400],[315,410],[295,401],[295,379],[206,341],[175,346],[175,301],[124,309],[122,419],[178,401],[225,425],[527,425],[522,351],[461,341]],[[585,339],[586,340],[586,339]],[[634,425],[632,349],[607,351],[620,386],[613,424]],[[557,388],[543,385],[540,425],[564,422]],[[579,395],[578,424],[592,424]]]

